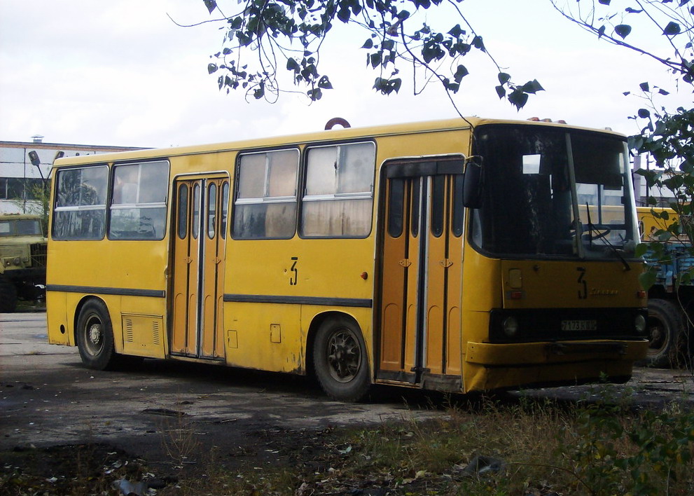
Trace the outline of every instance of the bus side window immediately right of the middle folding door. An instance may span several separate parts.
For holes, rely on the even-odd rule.
[[[293,237],[298,164],[296,149],[240,157],[232,230],[235,239]]]

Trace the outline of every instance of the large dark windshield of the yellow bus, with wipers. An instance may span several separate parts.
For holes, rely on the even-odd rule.
[[[483,205],[472,241],[495,255],[633,256],[636,216],[618,136],[531,125],[480,126]]]

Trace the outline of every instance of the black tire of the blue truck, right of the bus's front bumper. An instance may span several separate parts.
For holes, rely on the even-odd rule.
[[[676,303],[658,298],[648,301],[647,366],[672,368],[679,365],[685,325],[683,310]]]

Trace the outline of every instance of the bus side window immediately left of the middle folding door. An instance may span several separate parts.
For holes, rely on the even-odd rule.
[[[164,239],[168,184],[168,162],[114,166],[109,238]]]

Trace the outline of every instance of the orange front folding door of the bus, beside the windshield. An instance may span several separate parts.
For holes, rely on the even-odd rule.
[[[463,160],[398,160],[384,167],[376,377],[457,391]]]

